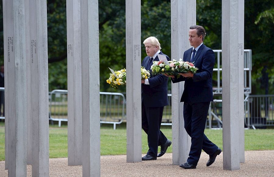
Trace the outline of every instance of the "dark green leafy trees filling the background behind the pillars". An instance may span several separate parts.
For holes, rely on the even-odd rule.
[[[1,0],[0,0],[1,1]],[[221,49],[221,1],[197,0],[197,25],[206,29],[205,44]],[[170,1],[141,1],[141,41],[156,36],[162,50],[171,56]],[[0,2],[0,40],[3,41],[2,1]],[[271,0],[245,1],[244,48],[252,49],[252,94],[274,94],[273,29],[274,10]],[[49,90],[67,89],[66,1],[47,1]],[[126,66],[125,0],[99,1],[100,90],[125,92],[125,87],[113,89],[105,82],[110,71]],[[145,48],[141,48],[143,59]],[[3,58],[3,43],[0,43]],[[3,60],[0,64],[4,63]]]

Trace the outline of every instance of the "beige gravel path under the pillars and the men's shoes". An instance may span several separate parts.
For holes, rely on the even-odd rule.
[[[208,155],[202,152],[196,169],[186,170],[172,165],[172,154],[165,154],[157,160],[127,163],[126,155],[101,156],[101,176],[274,176],[274,151],[245,151],[245,163],[240,170],[223,170],[223,153],[206,167]],[[51,158],[50,176],[82,176],[82,166],[68,166],[68,158]],[[0,176],[8,176],[5,161],[0,162]],[[27,166],[27,176],[31,176],[31,165]]]

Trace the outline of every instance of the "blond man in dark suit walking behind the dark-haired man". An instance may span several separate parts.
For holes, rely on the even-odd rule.
[[[155,37],[149,37],[144,40],[147,56],[142,61],[142,66],[151,71],[153,61],[159,61],[157,54],[163,54],[160,49],[160,43]],[[167,57],[167,60],[170,58]],[[147,134],[149,150],[142,157],[142,160],[156,160],[167,151],[171,141],[160,131],[163,116],[163,107],[168,105],[167,98],[168,77],[164,75],[150,76],[142,80],[142,129]],[[161,146],[160,153],[157,155],[158,146]]]

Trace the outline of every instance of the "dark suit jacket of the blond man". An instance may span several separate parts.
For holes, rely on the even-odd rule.
[[[162,51],[159,53],[161,55],[165,55]],[[170,58],[167,57],[167,60]],[[142,62],[142,66],[145,68],[148,65],[150,56],[146,56]],[[154,61],[159,61],[158,56],[154,59]],[[146,68],[150,72],[149,85],[142,84],[142,102],[145,107],[162,107],[168,105],[167,98],[167,81],[168,77],[159,74],[156,76],[152,75],[152,70],[150,68]]]

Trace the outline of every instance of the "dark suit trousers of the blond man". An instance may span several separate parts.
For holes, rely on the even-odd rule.
[[[167,137],[160,131],[163,107],[145,107],[142,103],[142,129],[147,134],[148,155],[157,157],[158,146],[166,143]]]

